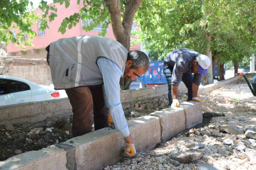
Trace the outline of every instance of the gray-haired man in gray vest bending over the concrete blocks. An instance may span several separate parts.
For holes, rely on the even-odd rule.
[[[113,122],[126,140],[125,149],[130,150],[125,153],[134,156],[136,150],[120,101],[119,80],[142,76],[149,68],[147,55],[128,52],[119,42],[99,36],[62,38],[52,42],[46,51],[54,89],[65,89],[72,106],[73,137],[92,131],[93,113],[95,130]]]

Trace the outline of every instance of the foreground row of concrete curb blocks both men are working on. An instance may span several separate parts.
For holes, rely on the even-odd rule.
[[[137,153],[202,122],[202,105],[184,102],[181,108],[163,109],[128,120]],[[191,119],[191,120],[190,120]],[[70,141],[74,143],[70,143]],[[125,140],[115,129],[104,128],[39,151],[30,151],[0,162],[1,170],[101,170],[120,162]]]

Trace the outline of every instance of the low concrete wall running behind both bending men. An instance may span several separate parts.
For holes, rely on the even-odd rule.
[[[229,84],[239,79],[239,76],[223,80],[214,84],[203,86],[199,89],[198,94],[209,93],[214,89],[217,89],[225,84]],[[186,90],[184,84],[179,89]],[[152,98],[156,96],[162,96],[167,93],[167,84],[155,87],[147,87],[143,89],[133,89],[121,91],[120,97],[122,103],[136,101],[140,99]],[[72,107],[68,98],[47,100],[42,102],[30,102],[26,104],[13,104],[9,106],[0,107],[0,124],[6,122],[11,124],[22,122],[39,122],[48,118],[64,117],[72,115]]]

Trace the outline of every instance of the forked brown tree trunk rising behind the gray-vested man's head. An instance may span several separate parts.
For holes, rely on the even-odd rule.
[[[133,19],[142,0],[129,0],[125,5],[124,19],[121,21],[121,5],[120,0],[104,0],[107,4],[113,33],[118,42],[120,42],[128,51],[130,51],[130,36]],[[126,78],[120,78],[120,88],[122,90],[129,89],[132,81]]]

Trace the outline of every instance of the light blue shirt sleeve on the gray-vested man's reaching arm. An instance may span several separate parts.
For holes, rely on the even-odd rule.
[[[122,136],[127,137],[130,135],[130,131],[122,109],[119,84],[120,77],[124,75],[125,66],[121,70],[115,63],[106,58],[98,58],[97,64],[104,82],[105,106],[110,109],[116,129],[121,132]]]

